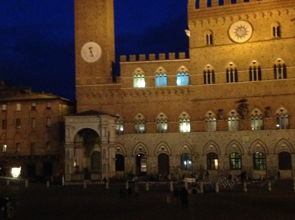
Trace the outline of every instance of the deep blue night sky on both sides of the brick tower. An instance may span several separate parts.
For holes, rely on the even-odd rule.
[[[114,0],[120,55],[188,52],[187,0]],[[75,99],[73,0],[0,1],[0,80]]]

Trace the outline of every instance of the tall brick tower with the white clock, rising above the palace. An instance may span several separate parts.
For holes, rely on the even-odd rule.
[[[112,83],[115,61],[113,0],[75,0],[76,93]]]

